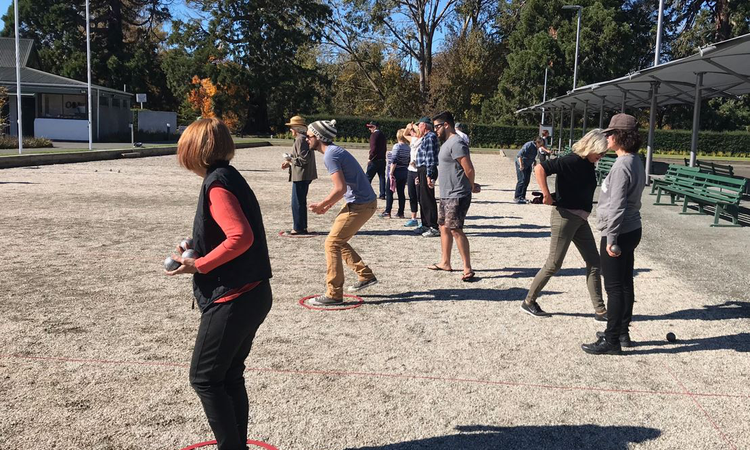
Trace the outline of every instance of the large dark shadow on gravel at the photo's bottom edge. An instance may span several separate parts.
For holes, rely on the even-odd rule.
[[[458,434],[438,436],[377,447],[347,450],[626,450],[633,443],[643,443],[661,436],[661,431],[647,427],[599,425],[549,425],[494,427],[458,426]]]

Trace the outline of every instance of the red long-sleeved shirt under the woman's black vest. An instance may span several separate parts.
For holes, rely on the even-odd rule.
[[[208,207],[211,217],[224,232],[226,239],[208,255],[195,260],[195,268],[200,273],[209,273],[222,264],[233,260],[245,253],[253,245],[255,236],[250,223],[242,212],[242,206],[231,192],[219,183],[208,188]],[[244,294],[259,285],[260,281],[248,283],[241,288],[233,289],[216,300],[215,303],[225,303]]]

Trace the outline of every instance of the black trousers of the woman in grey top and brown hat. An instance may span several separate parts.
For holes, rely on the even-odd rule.
[[[612,258],[607,253],[607,238],[602,237],[599,253],[602,258],[602,276],[604,290],[607,291],[607,330],[606,339],[611,343],[620,342],[620,335],[628,332],[633,319],[633,268],[635,266],[635,249],[641,242],[641,228],[621,234],[617,245],[622,253]]]

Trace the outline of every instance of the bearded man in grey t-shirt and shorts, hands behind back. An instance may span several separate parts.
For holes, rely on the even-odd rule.
[[[463,232],[466,213],[471,205],[471,194],[479,192],[474,183],[474,165],[471,163],[469,146],[456,133],[453,114],[448,111],[434,119],[437,136],[443,141],[438,155],[438,181],[440,183],[440,206],[438,224],[442,256],[439,264],[428,267],[431,270],[452,271],[451,250],[455,239],[458,252],[464,262],[461,281],[475,281],[471,268],[469,239]]]

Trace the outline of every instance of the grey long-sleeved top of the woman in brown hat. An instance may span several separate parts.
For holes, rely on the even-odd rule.
[[[636,154],[619,156],[602,182],[596,208],[597,228],[607,237],[607,245],[617,236],[641,228],[641,194],[646,171]]]

